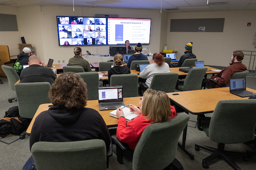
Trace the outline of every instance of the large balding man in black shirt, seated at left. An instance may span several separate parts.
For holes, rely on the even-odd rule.
[[[52,69],[44,67],[42,62],[35,54],[29,56],[29,67],[24,68],[20,73],[20,83],[23,82],[49,82],[52,84],[56,79],[56,74]]]

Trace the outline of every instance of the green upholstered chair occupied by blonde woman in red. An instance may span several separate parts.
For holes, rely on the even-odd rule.
[[[134,152],[112,135],[113,152],[130,170],[163,170],[175,159],[180,134],[188,121],[188,114],[180,113],[167,122],[148,125]]]

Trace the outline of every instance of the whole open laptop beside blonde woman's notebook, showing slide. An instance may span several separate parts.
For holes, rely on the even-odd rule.
[[[98,87],[99,110],[113,110],[125,106],[123,102],[122,86]]]

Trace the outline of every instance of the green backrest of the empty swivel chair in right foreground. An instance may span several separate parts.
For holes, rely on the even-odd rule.
[[[256,99],[221,100],[209,124],[212,141],[235,144],[253,139],[256,124]]]

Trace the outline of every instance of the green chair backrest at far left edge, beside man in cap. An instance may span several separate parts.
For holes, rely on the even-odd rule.
[[[2,65],[1,68],[3,69],[4,73],[7,76],[8,82],[9,82],[9,87],[15,91],[14,85],[15,83],[20,79],[19,75],[15,71],[13,67],[7,66],[7,65]]]

